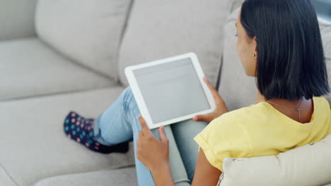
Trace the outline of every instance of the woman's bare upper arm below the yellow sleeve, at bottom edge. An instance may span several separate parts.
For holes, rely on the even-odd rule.
[[[221,171],[214,166],[211,166],[204,151],[200,148],[197,158],[197,166],[195,167],[194,178],[192,186],[195,185],[212,185],[215,186],[219,181]]]

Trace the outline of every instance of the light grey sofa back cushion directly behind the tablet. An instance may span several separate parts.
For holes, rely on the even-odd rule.
[[[120,81],[128,85],[127,66],[193,51],[215,85],[229,6],[230,0],[134,1],[120,47]]]

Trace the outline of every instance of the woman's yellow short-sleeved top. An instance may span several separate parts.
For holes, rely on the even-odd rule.
[[[303,124],[261,101],[215,118],[194,140],[209,163],[223,172],[226,157],[277,155],[331,134],[329,102],[313,97],[313,106],[310,123]]]

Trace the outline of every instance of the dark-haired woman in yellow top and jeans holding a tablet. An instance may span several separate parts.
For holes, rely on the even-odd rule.
[[[279,154],[329,135],[330,105],[321,96],[330,87],[310,1],[246,0],[236,27],[240,61],[246,75],[257,80],[259,92],[251,106],[227,112],[205,80],[216,111],[161,127],[158,140],[157,131],[149,130],[139,116],[128,87],[95,121],[69,113],[66,134],[104,153],[127,151],[133,137],[139,185],[216,185],[227,156]],[[177,148],[182,159],[175,156]],[[184,171],[174,168],[180,165]]]

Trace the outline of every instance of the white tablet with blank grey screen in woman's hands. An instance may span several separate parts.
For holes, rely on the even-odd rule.
[[[141,116],[151,129],[215,109],[194,53],[128,66],[125,75]]]

